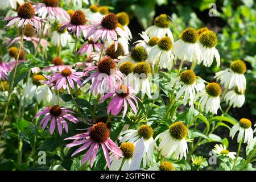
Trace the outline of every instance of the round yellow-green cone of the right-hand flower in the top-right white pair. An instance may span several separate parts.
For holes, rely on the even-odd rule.
[[[207,48],[212,48],[217,45],[218,38],[215,32],[213,31],[205,31],[203,32],[199,37],[199,42],[202,44],[202,46]]]

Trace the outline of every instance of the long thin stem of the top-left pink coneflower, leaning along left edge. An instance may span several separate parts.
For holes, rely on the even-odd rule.
[[[23,38],[24,38],[25,30],[26,30],[26,28],[23,27],[22,28],[22,34],[20,36],[19,51],[18,51],[18,55],[16,57],[13,77],[11,77],[11,84],[10,84],[9,90],[8,90],[8,96],[7,96],[7,101],[6,101],[6,105],[5,105],[5,114],[3,115],[1,131],[3,131],[3,127],[5,126],[5,121],[6,121],[6,117],[7,117],[7,111],[8,111],[8,107],[9,107],[9,103],[10,103],[10,99],[11,99],[11,93],[13,93],[13,85],[14,85],[14,80],[15,80],[15,76],[16,76],[16,72],[17,72],[19,55],[20,55],[20,51],[21,51],[21,48],[22,48],[22,44],[23,44]],[[1,138],[2,138],[2,134],[0,135],[0,140],[1,140]]]

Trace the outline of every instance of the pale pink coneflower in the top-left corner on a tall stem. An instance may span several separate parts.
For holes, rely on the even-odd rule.
[[[17,16],[6,17],[3,20],[8,22],[6,25],[7,28],[13,25],[17,28],[20,26],[24,27],[30,23],[36,31],[42,27],[42,22],[46,22],[46,20],[35,16],[35,9],[29,2],[25,2],[18,8]]]

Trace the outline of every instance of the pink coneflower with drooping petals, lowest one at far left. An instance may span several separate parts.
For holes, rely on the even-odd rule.
[[[74,113],[74,112],[71,110],[68,110],[65,107],[60,107],[59,105],[54,105],[51,107],[46,107],[46,109],[44,109],[44,110],[40,111],[38,114],[36,114],[33,119],[38,118],[40,115],[45,114],[45,116],[40,121],[40,125],[39,125],[39,126],[43,125],[42,130],[44,130],[46,128],[48,122],[51,119],[51,125],[49,128],[50,134],[51,135],[53,134],[53,131],[55,130],[55,126],[57,124],[59,134],[61,135],[63,126],[64,126],[66,133],[68,133],[68,124],[65,121],[65,119],[67,119],[68,121],[71,121],[73,123],[79,122],[79,120],[76,117],[74,117],[73,115],[71,115],[70,113]]]

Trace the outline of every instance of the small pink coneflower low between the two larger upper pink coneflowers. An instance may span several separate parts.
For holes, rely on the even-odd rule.
[[[94,51],[100,52],[102,46],[103,46],[102,43],[95,41],[93,38],[89,38],[88,43],[85,43],[84,45],[82,45],[78,53],[80,55],[84,55],[84,53],[86,52],[86,55],[90,56],[90,54]]]

